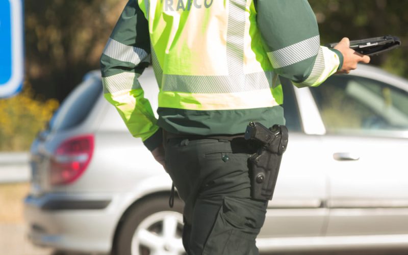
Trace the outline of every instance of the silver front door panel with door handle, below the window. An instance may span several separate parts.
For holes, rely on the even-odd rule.
[[[323,157],[332,161],[326,235],[406,233],[408,169],[404,155],[408,140],[325,136],[323,144],[327,149]],[[391,144],[392,150],[388,149]],[[333,158],[337,152],[358,159],[337,161]]]

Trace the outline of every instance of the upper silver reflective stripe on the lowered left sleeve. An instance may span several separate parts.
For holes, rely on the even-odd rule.
[[[148,54],[144,49],[125,45],[112,38],[109,38],[104,49],[104,54],[110,58],[135,65],[138,65],[140,62],[148,61]]]

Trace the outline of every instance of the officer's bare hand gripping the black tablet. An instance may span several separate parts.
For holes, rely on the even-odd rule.
[[[349,73],[351,70],[357,68],[357,63],[370,63],[370,57],[361,55],[350,48],[350,40],[344,37],[339,44],[335,46],[335,49],[339,50],[343,54],[343,66],[338,73]]]

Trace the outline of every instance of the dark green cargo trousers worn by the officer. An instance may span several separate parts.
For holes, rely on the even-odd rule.
[[[255,239],[267,201],[250,197],[243,138],[165,141],[166,168],[185,201],[183,244],[189,255],[259,254]]]

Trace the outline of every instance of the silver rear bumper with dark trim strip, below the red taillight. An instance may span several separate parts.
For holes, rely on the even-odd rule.
[[[122,194],[116,197],[120,198]],[[24,218],[30,223],[29,238],[34,244],[84,252],[107,252],[111,249],[112,226],[120,217],[115,209],[117,201],[112,200],[104,210],[47,211],[41,207],[49,199],[100,199],[107,195],[46,194],[41,197],[27,197],[24,200]],[[115,196],[114,196],[115,197]],[[113,210],[112,210],[113,209]],[[95,227],[97,226],[97,227]],[[80,231],[79,231],[80,230]]]

